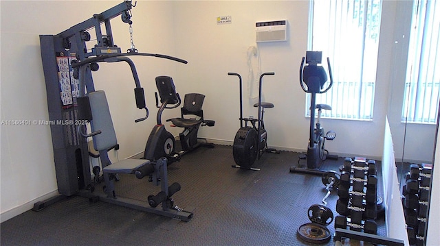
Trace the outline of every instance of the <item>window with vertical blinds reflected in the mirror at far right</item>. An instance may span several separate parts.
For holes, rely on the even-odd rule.
[[[412,8],[402,121],[437,123],[440,93],[440,1]]]

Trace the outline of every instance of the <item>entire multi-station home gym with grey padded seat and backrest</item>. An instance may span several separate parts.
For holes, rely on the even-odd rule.
[[[33,210],[41,210],[45,206],[72,195],[82,195],[91,201],[107,201],[112,204],[126,206],[137,210],[152,212],[166,217],[189,221],[192,212],[186,212],[174,206],[171,195],[180,190],[178,183],[168,186],[167,160],[135,160],[126,159],[111,162],[107,151],[118,149],[109,107],[103,90],[95,90],[92,71],[98,71],[99,62],[126,62],[131,69],[135,81],[135,102],[137,108],[146,110],[146,116],[136,119],[143,121],[148,117],[144,89],[140,86],[135,64],[129,56],[151,56],[164,58],[186,64],[185,60],[154,53],[139,53],[133,44],[131,9],[135,7],[131,1],[123,1],[82,23],[56,35],[41,35],[41,57],[47,90],[47,106],[58,192],[61,196],[34,204]],[[124,23],[129,24],[131,48],[122,53],[120,47],[113,43],[110,20],[121,16]],[[104,27],[104,28],[102,28]],[[96,32],[96,43],[91,49],[89,30]],[[103,30],[104,29],[104,30]],[[104,33],[102,31],[105,31]],[[91,133],[87,134],[90,123]],[[94,149],[99,151],[102,162],[100,168],[93,169],[94,175],[104,176],[102,191],[95,190],[96,182],[91,178],[89,149],[87,138],[92,137]],[[135,173],[137,169],[146,169],[155,185],[162,190],[157,195],[149,195],[145,202],[118,197],[114,182],[118,181],[119,173]],[[95,179],[96,180],[96,179]],[[148,202],[147,202],[148,201]],[[162,208],[156,208],[162,204]]]

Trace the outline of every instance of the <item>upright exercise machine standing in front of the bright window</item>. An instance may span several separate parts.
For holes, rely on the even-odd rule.
[[[330,83],[324,88],[327,82],[327,73],[324,68],[318,64],[322,61],[322,51],[307,51],[306,57],[303,57],[300,66],[300,85],[305,93],[311,93],[310,103],[310,135],[309,145],[307,147],[307,169],[299,167],[291,167],[291,173],[307,173],[313,175],[323,175],[327,172],[319,171],[318,166],[323,160],[328,158],[338,158],[338,156],[328,155],[325,149],[325,140],[333,140],[336,132],[329,131],[324,134],[324,129],[320,124],[322,110],[331,110],[331,106],[327,104],[316,104],[316,94],[327,93],[333,85],[333,77],[331,76],[331,67],[329,58],[327,58],[327,66],[329,68]],[[305,66],[304,62],[307,63]],[[315,125],[315,110],[318,109],[318,120]],[[327,153],[326,153],[327,152]]]

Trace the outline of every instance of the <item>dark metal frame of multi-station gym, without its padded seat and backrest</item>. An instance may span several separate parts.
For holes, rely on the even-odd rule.
[[[127,53],[122,53],[121,49],[113,43],[110,20],[116,16],[121,16],[124,23],[129,23],[130,34],[132,34],[131,8],[133,7],[135,5],[131,1],[123,1],[109,10],[100,14],[94,14],[91,19],[78,23],[60,34],[40,35],[41,58],[47,90],[47,106],[50,121],[55,122],[50,125],[50,129],[54,149],[56,180],[58,192],[61,195],[37,202],[34,204],[33,210],[41,210],[65,197],[82,195],[88,197],[90,201],[107,201],[120,206],[181,219],[182,221],[189,221],[192,218],[192,212],[180,209],[170,210],[170,206],[167,206],[167,204],[172,204],[172,201],[164,201],[161,210],[155,208],[155,206],[147,206],[148,203],[135,199],[124,197],[115,199],[115,197],[109,197],[108,195],[97,196],[92,194],[94,184],[91,180],[86,137],[94,136],[100,132],[83,133],[85,123],[87,123],[84,116],[89,113],[85,110],[85,108],[87,109],[88,101],[83,100],[83,96],[85,95],[85,90],[87,90],[87,93],[95,91],[91,71],[99,69],[98,62],[127,62],[129,64],[135,80],[136,106],[141,110],[146,110],[146,116],[135,120],[135,122],[140,122],[148,117],[148,109],[145,106],[144,90],[140,86],[134,63],[127,56],[153,56],[184,64],[187,63],[185,60],[171,56],[138,53],[133,45],[132,38],[131,49],[128,49]],[[102,34],[102,24],[104,24],[105,34]],[[86,42],[90,40],[91,36],[87,30],[92,28],[96,32],[96,45],[89,52]],[[171,190],[171,186],[168,190],[166,158],[157,160],[151,166],[155,185],[159,185],[160,182],[162,193],[165,193],[166,197],[170,196],[168,191]],[[177,190],[174,184],[172,186]],[[159,194],[150,196],[148,201],[158,196]],[[157,206],[157,204],[154,205]]]

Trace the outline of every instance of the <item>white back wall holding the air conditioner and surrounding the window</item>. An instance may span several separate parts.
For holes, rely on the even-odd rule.
[[[269,132],[269,145],[296,151],[307,147],[309,119],[304,116],[305,93],[299,86],[298,70],[307,50],[308,10],[309,1],[175,2],[175,19],[184,23],[176,30],[177,47],[190,61],[188,66],[180,68],[181,73],[187,74],[188,82],[192,83],[191,87],[185,86],[184,89],[206,93],[208,102],[205,111],[208,114],[216,112],[215,129],[204,129],[202,135],[224,140],[234,138],[239,126],[239,90],[236,77],[227,73],[241,73],[247,81],[247,50],[256,45],[255,23],[287,19],[287,42],[257,45],[262,71],[275,72],[274,77],[265,77],[263,82],[264,99],[275,105],[275,108],[266,111],[265,125]],[[232,16],[232,24],[217,25],[217,16],[225,15]],[[392,36],[384,35],[383,42],[391,42],[390,39]],[[381,49],[381,52],[381,64],[389,67],[391,53],[387,53],[386,49]],[[333,142],[327,142],[329,151],[375,157],[382,155],[383,121],[387,110],[384,106],[388,104],[389,80],[386,73],[384,68],[377,75],[375,118],[372,122],[322,120],[326,130],[338,133]],[[247,87],[243,90],[246,91]],[[244,101],[245,116],[256,115],[253,103]]]

